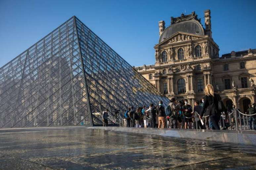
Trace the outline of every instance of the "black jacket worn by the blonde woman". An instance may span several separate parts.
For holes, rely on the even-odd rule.
[[[207,109],[210,109],[210,106],[212,105],[212,103],[214,103],[214,108],[211,108],[212,112],[211,114],[218,114],[220,115],[220,111],[218,110],[218,99],[221,99],[219,95],[214,94],[213,96],[204,96],[204,102],[203,102],[203,106],[202,106],[202,110],[200,113],[200,116],[203,116],[204,112],[206,111],[206,114],[208,114]]]

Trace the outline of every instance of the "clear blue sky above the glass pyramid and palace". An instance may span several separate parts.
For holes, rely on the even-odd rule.
[[[256,48],[255,0],[0,0],[0,67],[73,15],[132,66],[154,64],[158,21],[195,11],[204,23],[206,9],[220,55]]]

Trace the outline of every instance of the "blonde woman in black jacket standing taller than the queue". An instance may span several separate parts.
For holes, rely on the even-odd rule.
[[[200,114],[202,118],[204,112],[209,115],[212,122],[212,129],[219,130],[219,121],[221,118],[221,111],[218,110],[218,101],[221,100],[220,95],[214,94],[214,88],[211,84],[205,86],[204,102]]]

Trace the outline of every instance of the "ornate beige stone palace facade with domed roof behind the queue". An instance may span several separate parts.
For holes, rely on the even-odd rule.
[[[255,102],[256,49],[232,51],[219,57],[211,31],[211,12],[204,11],[204,24],[195,12],[171,17],[171,25],[159,21],[159,43],[154,46],[155,64],[135,67],[169,99],[194,100],[212,84],[228,109],[235,104],[242,112]]]

